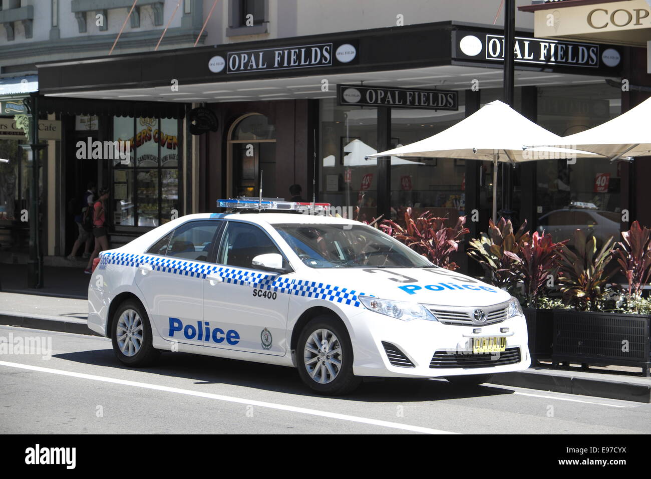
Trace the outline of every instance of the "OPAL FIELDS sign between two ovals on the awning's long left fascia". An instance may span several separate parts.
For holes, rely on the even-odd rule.
[[[356,42],[355,42],[356,43]],[[251,73],[270,70],[290,70],[314,66],[350,64],[357,58],[353,43],[317,43],[256,50],[229,51],[214,55],[208,61],[208,70],[221,73]]]

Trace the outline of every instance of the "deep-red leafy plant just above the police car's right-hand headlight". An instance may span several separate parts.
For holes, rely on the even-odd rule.
[[[513,260],[513,269],[524,283],[525,306],[535,308],[546,292],[546,282],[558,268],[559,252],[565,243],[555,243],[548,233],[534,231],[531,239],[520,242],[518,254],[505,250],[504,254]]]

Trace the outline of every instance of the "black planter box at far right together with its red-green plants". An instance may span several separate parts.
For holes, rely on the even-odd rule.
[[[618,266],[629,278],[629,297],[641,298],[632,293],[636,291],[635,282],[648,278],[643,251],[648,249],[648,235],[644,240],[644,231],[634,225],[622,237],[624,242],[617,253],[611,246],[612,238],[597,251],[594,237],[587,238],[578,229],[574,233],[576,251],[561,246],[558,279],[565,301],[573,309],[554,312],[552,360],[555,366],[561,361],[584,366],[619,364],[639,366],[644,375],[649,375],[651,317],[631,314],[626,308],[616,306],[613,300],[616,293],[608,281],[617,269],[607,270],[611,259],[618,255],[621,260]]]

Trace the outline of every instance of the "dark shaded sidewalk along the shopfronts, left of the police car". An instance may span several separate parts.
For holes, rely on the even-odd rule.
[[[44,266],[44,287],[34,289],[27,287],[27,265],[0,263],[0,292],[87,299],[90,274],[83,272],[86,262],[71,265],[76,267]]]

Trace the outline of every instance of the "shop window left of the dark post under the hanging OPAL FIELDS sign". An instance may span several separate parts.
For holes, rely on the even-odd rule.
[[[378,214],[378,160],[365,156],[378,152],[377,109],[338,106],[327,98],[321,100],[320,124],[319,201],[359,207],[359,220],[372,220]]]

